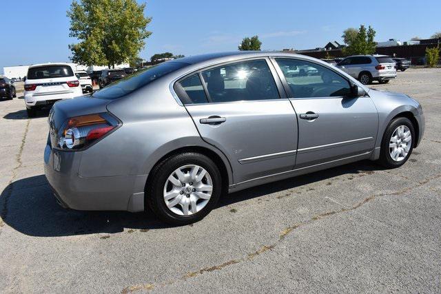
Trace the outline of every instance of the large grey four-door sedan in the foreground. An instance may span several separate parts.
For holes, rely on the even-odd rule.
[[[286,67],[318,74],[291,77]],[[188,224],[223,192],[357,160],[400,167],[424,115],[413,98],[369,89],[318,59],[229,52],[161,63],[60,101],[49,127],[45,176],[63,207],[148,208]]]

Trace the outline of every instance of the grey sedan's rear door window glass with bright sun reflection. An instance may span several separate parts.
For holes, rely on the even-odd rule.
[[[274,77],[262,59],[223,65],[202,76],[213,103],[280,98]]]

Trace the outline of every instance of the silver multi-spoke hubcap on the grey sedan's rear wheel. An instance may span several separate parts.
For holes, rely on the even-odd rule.
[[[184,165],[167,178],[163,197],[168,209],[179,216],[201,211],[212,197],[212,177],[203,167]]]

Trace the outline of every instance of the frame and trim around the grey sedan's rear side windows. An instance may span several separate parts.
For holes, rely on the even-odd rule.
[[[187,103],[187,101],[191,101],[191,99],[189,99],[189,96],[185,93],[185,96],[181,95],[178,93],[178,91],[176,91],[176,84],[178,84],[178,87],[181,87],[181,82],[184,81],[186,78],[189,78],[190,76],[193,76],[194,74],[198,74],[199,78],[201,79],[201,83],[205,92],[205,96],[207,97],[208,102],[207,103],[197,103],[195,105],[204,105],[204,104],[212,104],[212,103],[235,103],[238,101],[225,101],[225,102],[213,102],[212,98],[209,96],[208,90],[207,90],[207,86],[205,85],[205,80],[203,78],[203,72],[207,71],[207,70],[211,70],[214,69],[216,67],[220,67],[220,66],[227,66],[227,65],[232,65],[234,63],[242,63],[242,62],[247,62],[247,61],[258,61],[258,60],[264,60],[267,63],[267,66],[269,67],[269,71],[271,72],[271,75],[273,76],[274,79],[274,83],[276,84],[276,89],[278,92],[278,99],[280,98],[289,98],[288,93],[286,92],[285,86],[283,86],[283,79],[280,78],[280,75],[277,72],[277,67],[274,66],[274,64],[271,61],[271,57],[269,56],[259,56],[259,57],[253,57],[253,58],[247,58],[247,59],[238,59],[235,61],[226,61],[224,63],[217,63],[214,65],[208,65],[207,67],[203,67],[200,68],[198,70],[194,70],[193,72],[189,72],[188,74],[185,74],[185,76],[182,76],[181,78],[178,78],[177,80],[175,80],[172,85],[173,85],[173,90],[176,93],[176,95],[178,96],[179,100],[181,101],[181,103],[183,103],[183,105],[193,105],[195,103],[189,102]],[[278,79],[276,78],[278,77]],[[280,82],[278,82],[280,81]],[[183,89],[182,89],[183,90]],[[183,92],[185,92],[183,90]],[[182,96],[182,97],[181,97]],[[277,99],[269,99],[269,100],[277,100]],[[263,101],[263,100],[255,100],[252,102],[256,102],[256,101]]]

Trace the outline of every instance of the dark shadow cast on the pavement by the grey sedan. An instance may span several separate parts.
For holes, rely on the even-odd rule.
[[[289,178],[225,195],[220,199],[217,208],[343,174],[369,174],[378,169],[381,168],[373,162],[362,161]],[[8,185],[0,196],[0,213],[3,222],[13,229],[25,235],[39,237],[119,233],[124,229],[150,230],[170,227],[156,220],[152,213],[63,209],[52,195],[43,175],[23,178]]]

